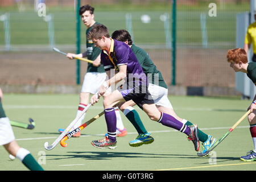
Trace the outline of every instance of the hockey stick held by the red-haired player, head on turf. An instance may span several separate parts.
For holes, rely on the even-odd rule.
[[[207,154],[209,154],[210,151],[212,151],[215,147],[218,146],[218,144],[220,144],[222,142],[222,140],[224,140],[226,137],[228,137],[228,135],[243,121],[243,119],[245,119],[247,117],[248,114],[250,114],[251,110],[249,109],[245,114],[243,114],[243,116],[229,129],[229,131],[227,133],[225,133],[225,135],[223,135],[223,137],[221,137],[220,139],[217,140],[216,143],[213,144],[212,147],[210,147],[207,151],[205,152],[198,152],[197,156],[205,156]]]

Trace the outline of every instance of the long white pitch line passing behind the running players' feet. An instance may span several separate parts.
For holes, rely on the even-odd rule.
[[[249,126],[237,126],[237,129],[249,128]],[[200,130],[224,130],[230,129],[230,127],[211,127]],[[177,130],[160,130],[160,131],[148,131],[149,133],[167,133],[167,132],[176,132]],[[129,135],[138,134],[136,132],[129,132]],[[105,136],[105,134],[95,134],[95,135],[81,135],[80,137],[92,137],[92,136]],[[57,137],[40,137],[40,138],[20,138],[15,140],[40,140],[40,139],[56,139]]]

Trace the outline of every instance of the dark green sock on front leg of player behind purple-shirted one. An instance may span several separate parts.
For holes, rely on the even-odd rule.
[[[125,109],[123,111],[123,114],[125,114],[126,118],[129,119],[129,121],[133,124],[138,134],[146,134],[147,130],[145,129],[141,121],[141,118],[139,117],[139,114],[137,113],[136,110],[133,109],[133,107],[129,108],[130,109]]]

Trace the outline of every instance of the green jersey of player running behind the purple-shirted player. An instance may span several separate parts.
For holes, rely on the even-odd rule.
[[[167,85],[166,82],[164,82],[162,73],[158,71],[158,69],[156,69],[155,64],[152,62],[147,52],[144,51],[142,48],[135,46],[134,44],[131,46],[131,49],[137,57],[139,64],[141,64],[144,73],[146,73],[148,80],[151,80],[150,83],[155,84],[154,74],[158,74],[158,86],[162,86],[163,88],[167,89]],[[148,73],[151,74],[148,75]]]

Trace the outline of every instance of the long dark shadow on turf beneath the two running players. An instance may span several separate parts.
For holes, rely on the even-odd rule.
[[[48,159],[48,160],[57,160],[57,159],[72,159],[72,158],[83,158],[83,159],[92,159],[92,160],[106,160],[112,158],[190,158],[196,159],[195,155],[175,155],[175,154],[145,154],[138,152],[67,152],[75,153],[72,155],[46,155],[46,156],[56,156],[63,158]],[[176,157],[174,157],[176,156]]]

